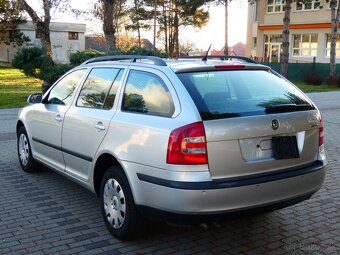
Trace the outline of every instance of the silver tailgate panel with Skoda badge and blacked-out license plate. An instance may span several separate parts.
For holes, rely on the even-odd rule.
[[[279,123],[276,130],[273,121]],[[312,164],[318,157],[319,123],[317,110],[205,121],[212,178],[246,178]],[[283,136],[296,137],[298,157],[274,158],[273,137]],[[283,146],[283,151],[294,150],[294,143]]]

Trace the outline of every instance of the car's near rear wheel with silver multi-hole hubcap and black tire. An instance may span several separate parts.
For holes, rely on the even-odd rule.
[[[128,180],[120,166],[108,168],[100,187],[100,205],[106,227],[121,240],[144,232],[145,220],[138,213]]]

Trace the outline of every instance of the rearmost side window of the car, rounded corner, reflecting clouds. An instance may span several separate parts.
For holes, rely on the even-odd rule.
[[[124,91],[123,111],[171,117],[174,104],[164,81],[155,74],[130,71]]]

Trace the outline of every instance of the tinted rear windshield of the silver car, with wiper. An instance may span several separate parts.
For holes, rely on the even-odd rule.
[[[266,70],[177,74],[203,120],[312,110],[293,85]]]

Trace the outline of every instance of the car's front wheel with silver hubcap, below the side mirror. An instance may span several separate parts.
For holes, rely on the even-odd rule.
[[[34,173],[41,170],[42,165],[35,161],[32,156],[31,144],[24,127],[21,127],[18,132],[17,152],[22,170],[27,173]]]

